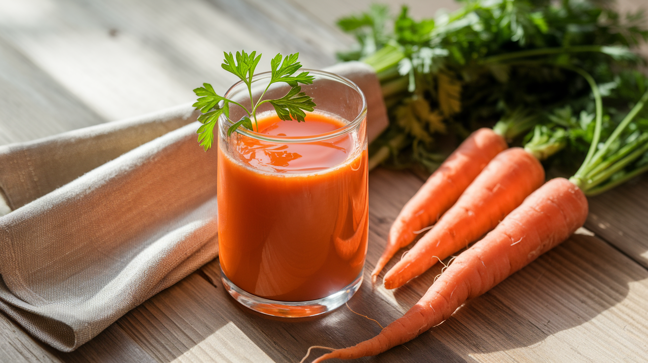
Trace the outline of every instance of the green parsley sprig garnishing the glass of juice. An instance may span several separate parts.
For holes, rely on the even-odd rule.
[[[200,146],[205,148],[205,151],[211,148],[211,145],[214,142],[214,126],[216,126],[216,123],[218,122],[218,117],[220,117],[220,115],[225,115],[229,119],[230,103],[241,107],[246,112],[246,115],[237,122],[231,120],[233,124],[229,129],[227,129],[227,136],[236,131],[238,127],[244,127],[249,130],[256,128],[258,130],[259,124],[257,122],[257,109],[260,105],[265,103],[269,103],[274,107],[277,116],[279,116],[279,119],[281,120],[297,120],[297,122],[302,122],[305,121],[305,111],[310,112],[314,110],[316,104],[313,102],[313,98],[308,96],[306,93],[301,92],[301,86],[299,83],[312,84],[315,77],[310,76],[308,72],[300,72],[299,74],[296,74],[297,71],[301,69],[301,63],[297,61],[299,53],[290,54],[285,58],[281,54],[277,54],[275,58],[270,61],[270,68],[272,69],[270,82],[268,82],[268,86],[256,103],[252,97],[252,81],[254,71],[261,59],[261,54],[259,54],[259,56],[257,56],[257,52],[251,52],[248,54],[245,50],[237,52],[236,58],[231,52],[229,52],[229,54],[225,52],[224,54],[225,60],[221,66],[227,72],[235,74],[235,76],[248,86],[250,108],[248,109],[248,107],[245,107],[238,102],[219,96],[216,91],[214,91],[214,87],[209,83],[203,83],[203,87],[194,89],[194,93],[198,96],[198,100],[196,100],[196,103],[193,106],[202,113],[202,115],[198,116],[198,121],[202,123],[202,125],[198,127],[197,131],[198,142],[200,142]],[[266,94],[268,89],[270,89],[270,85],[279,82],[288,83],[291,87],[290,91],[281,98],[264,100],[263,96]],[[254,122],[252,119],[254,119]]]

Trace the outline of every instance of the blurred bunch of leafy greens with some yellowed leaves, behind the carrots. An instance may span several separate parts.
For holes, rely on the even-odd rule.
[[[373,67],[391,125],[370,148],[375,166],[422,165],[432,171],[448,155],[439,134],[461,140],[471,130],[515,115],[533,115],[590,94],[568,67],[597,82],[601,70],[632,66],[629,51],[648,37],[641,13],[621,17],[594,1],[464,1],[462,8],[415,21],[403,7],[392,23],[385,6],[340,19],[358,48],[339,54]],[[509,137],[528,125],[502,127]],[[444,137],[445,140],[448,137]],[[450,143],[449,149],[454,148]],[[394,157],[391,157],[394,156]]]

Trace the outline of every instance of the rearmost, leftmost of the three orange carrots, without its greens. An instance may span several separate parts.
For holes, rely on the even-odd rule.
[[[507,147],[506,140],[492,129],[481,128],[470,134],[402,208],[389,229],[387,246],[371,272],[371,280],[375,283],[389,259],[416,238],[414,232],[435,223],[491,159]]]

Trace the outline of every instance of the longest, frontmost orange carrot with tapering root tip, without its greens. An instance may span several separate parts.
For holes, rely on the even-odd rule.
[[[463,302],[489,291],[583,226],[588,204],[564,178],[547,182],[481,241],[454,260],[416,305],[379,335],[314,360],[376,355],[408,342],[450,317]]]

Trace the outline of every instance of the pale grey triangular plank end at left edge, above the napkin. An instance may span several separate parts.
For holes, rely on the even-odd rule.
[[[0,38],[0,145],[101,122],[102,117]]]

